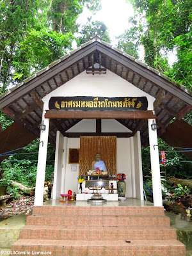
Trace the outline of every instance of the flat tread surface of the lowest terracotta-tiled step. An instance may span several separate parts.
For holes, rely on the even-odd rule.
[[[172,240],[131,240],[126,243],[125,240],[43,240],[43,239],[19,239],[16,245],[47,245],[47,246],[184,246],[177,239]]]

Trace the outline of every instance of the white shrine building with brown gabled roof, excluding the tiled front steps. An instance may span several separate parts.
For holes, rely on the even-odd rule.
[[[125,197],[143,200],[141,146],[150,145],[154,206],[161,206],[157,138],[190,111],[192,98],[184,86],[94,36],[1,95],[0,104],[40,136],[35,205],[43,204],[49,141],[56,147],[52,199],[68,189],[78,194],[77,177],[87,175],[100,152],[108,175],[125,173]]]

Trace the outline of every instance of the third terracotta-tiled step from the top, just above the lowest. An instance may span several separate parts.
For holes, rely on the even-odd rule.
[[[176,239],[176,231],[170,227],[63,227],[26,226],[20,230],[20,239],[58,240],[170,240]]]

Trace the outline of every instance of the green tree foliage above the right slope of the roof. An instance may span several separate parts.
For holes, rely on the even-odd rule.
[[[145,47],[147,64],[191,88],[192,1],[130,0],[129,2],[134,6],[136,24],[142,26],[141,44]],[[171,70],[167,65],[166,54],[173,49],[177,51],[177,62]]]

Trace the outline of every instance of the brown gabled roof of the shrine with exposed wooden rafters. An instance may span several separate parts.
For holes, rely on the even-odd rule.
[[[129,54],[94,36],[92,40],[70,51],[48,67],[36,72],[22,83],[0,96],[0,108],[10,115],[15,122],[24,125],[29,131],[39,136],[38,125],[42,118],[42,98],[67,83],[95,63],[105,67],[116,75],[134,84],[143,92],[156,98],[154,109],[157,120],[157,134],[161,136],[173,117],[180,119],[191,110],[192,93],[185,86],[179,85],[158,70],[148,67]],[[148,144],[148,127],[146,120],[117,119],[135,134],[141,132],[142,145]],[[66,131],[79,120],[51,120],[49,140],[54,143],[56,131],[71,136]],[[73,134],[79,136],[80,134]],[[114,134],[113,134],[114,135]],[[117,136],[130,136],[117,134]]]

